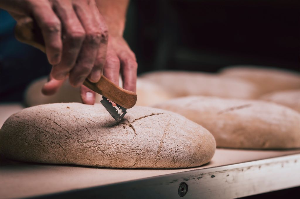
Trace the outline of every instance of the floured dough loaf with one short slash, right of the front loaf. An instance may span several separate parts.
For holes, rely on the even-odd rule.
[[[155,107],[179,113],[202,125],[214,135],[217,147],[300,147],[299,113],[272,102],[182,97]]]

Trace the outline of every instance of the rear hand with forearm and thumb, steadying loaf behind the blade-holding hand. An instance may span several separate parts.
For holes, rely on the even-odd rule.
[[[103,74],[116,85],[119,85],[121,72],[123,88],[135,92],[137,61],[135,54],[123,38],[128,2],[128,0],[96,0],[99,12],[104,17],[109,31]],[[82,86],[80,94],[84,103],[95,103],[95,92]]]

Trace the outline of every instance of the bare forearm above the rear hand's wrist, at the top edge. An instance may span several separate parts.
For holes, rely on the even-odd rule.
[[[122,36],[125,28],[129,0],[96,0],[111,36]]]

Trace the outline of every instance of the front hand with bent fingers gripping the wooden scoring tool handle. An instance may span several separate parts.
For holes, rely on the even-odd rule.
[[[17,21],[32,17],[41,28],[46,55],[53,65],[51,77],[82,85],[88,77],[98,82],[105,63],[108,31],[94,0],[1,1]],[[55,93],[46,87],[44,93]]]

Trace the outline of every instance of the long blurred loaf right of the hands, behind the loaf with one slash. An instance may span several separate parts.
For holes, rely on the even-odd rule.
[[[189,95],[253,99],[257,97],[255,85],[244,80],[220,77],[215,74],[187,71],[159,71],[140,78],[160,85],[173,97]]]

